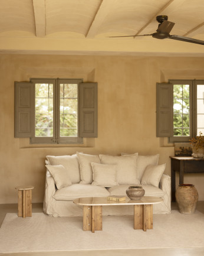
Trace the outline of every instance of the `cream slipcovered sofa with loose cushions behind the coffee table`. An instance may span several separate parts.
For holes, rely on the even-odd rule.
[[[162,197],[153,213],[170,213],[170,177],[159,155],[123,154],[47,156],[44,213],[50,216],[83,216],[78,197],[126,196],[131,185],[141,184],[144,196]],[[132,206],[104,206],[103,215],[133,215]]]

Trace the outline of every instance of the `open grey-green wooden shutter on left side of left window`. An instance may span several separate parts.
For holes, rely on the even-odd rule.
[[[15,138],[30,138],[34,134],[34,84],[15,82]]]

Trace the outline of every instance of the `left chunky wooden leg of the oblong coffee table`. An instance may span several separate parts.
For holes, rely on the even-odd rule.
[[[83,231],[102,230],[102,206],[84,206]]]

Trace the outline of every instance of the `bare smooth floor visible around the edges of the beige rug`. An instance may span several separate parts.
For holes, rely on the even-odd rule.
[[[204,213],[204,201],[199,201],[197,208]],[[178,209],[172,203],[172,209]],[[0,205],[0,225],[6,213],[17,213],[18,204]],[[32,203],[32,212],[42,212],[42,203]],[[196,239],[196,238],[195,238]],[[161,241],[162,242],[162,241]],[[108,249],[97,251],[57,251],[57,252],[24,252],[1,254],[0,256],[203,256],[204,248],[153,248],[153,249]]]

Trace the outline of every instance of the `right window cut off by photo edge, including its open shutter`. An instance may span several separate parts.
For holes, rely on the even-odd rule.
[[[188,142],[204,134],[204,80],[157,83],[157,137]]]

